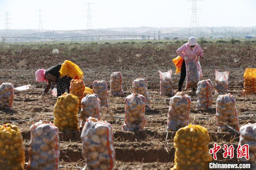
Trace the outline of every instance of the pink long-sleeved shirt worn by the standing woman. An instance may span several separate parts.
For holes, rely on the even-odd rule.
[[[199,54],[200,58],[203,57],[204,51],[202,48],[197,44],[193,50],[189,47],[188,43],[185,43],[183,46],[181,46],[178,50],[176,50],[176,53],[180,55],[182,59],[184,57],[188,58],[188,61],[193,61],[196,59],[196,54]]]

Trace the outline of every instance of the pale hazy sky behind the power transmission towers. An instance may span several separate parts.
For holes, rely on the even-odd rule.
[[[12,29],[38,29],[38,11],[44,9],[43,29],[86,28],[85,0],[0,0],[0,29],[4,11],[10,11]],[[90,0],[93,28],[189,27],[192,7],[186,0]],[[256,0],[197,1],[200,26],[256,26]]]

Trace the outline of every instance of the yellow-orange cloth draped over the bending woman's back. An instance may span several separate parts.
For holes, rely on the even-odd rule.
[[[83,80],[82,70],[78,65],[68,60],[65,60],[60,67],[60,78],[64,76],[68,76],[73,79],[77,76],[80,80]]]

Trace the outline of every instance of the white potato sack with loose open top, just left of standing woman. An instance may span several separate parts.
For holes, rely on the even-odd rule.
[[[161,96],[174,96],[175,93],[173,91],[173,82],[171,79],[172,76],[172,70],[169,72],[162,73],[158,70],[158,73],[160,75],[160,95]]]

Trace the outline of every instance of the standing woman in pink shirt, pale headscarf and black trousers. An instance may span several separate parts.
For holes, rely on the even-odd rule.
[[[186,78],[185,61],[194,61],[194,60],[199,61],[199,59],[203,57],[204,52],[202,48],[196,43],[196,38],[190,37],[187,43],[185,43],[178,50],[176,50],[176,53],[182,59],[184,59],[181,66],[180,81],[178,82],[178,91],[181,92],[183,82]],[[195,91],[195,88],[193,88],[193,91]]]

